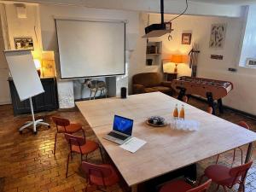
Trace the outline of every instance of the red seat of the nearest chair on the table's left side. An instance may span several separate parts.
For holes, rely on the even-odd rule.
[[[113,166],[111,165],[101,165],[101,166],[108,167],[112,171],[108,177],[104,177],[104,182],[106,186],[111,186],[119,182],[119,176],[115,168],[113,168]],[[90,181],[91,183],[94,183],[96,185],[103,186],[102,177],[96,177],[96,176],[90,175]]]

